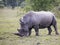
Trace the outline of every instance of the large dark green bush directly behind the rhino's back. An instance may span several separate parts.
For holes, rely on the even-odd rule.
[[[58,0],[30,0],[30,3],[34,11],[52,10],[59,5]]]

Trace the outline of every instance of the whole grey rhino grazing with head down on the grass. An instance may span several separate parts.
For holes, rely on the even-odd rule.
[[[36,36],[39,35],[39,29],[43,28],[47,28],[48,35],[51,35],[51,26],[54,27],[55,33],[58,34],[55,15],[49,11],[30,11],[25,14],[23,19],[20,19],[20,24],[21,29],[18,29],[20,36],[30,36],[32,28],[35,29]]]

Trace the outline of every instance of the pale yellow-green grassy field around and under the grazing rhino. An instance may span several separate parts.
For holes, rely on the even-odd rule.
[[[52,35],[47,35],[47,29],[40,29],[39,36],[35,36],[34,29],[29,37],[14,35],[20,27],[19,18],[23,16],[21,12],[19,9],[0,9],[0,45],[60,45],[60,35],[56,35],[53,28]],[[59,18],[57,23],[60,33]]]

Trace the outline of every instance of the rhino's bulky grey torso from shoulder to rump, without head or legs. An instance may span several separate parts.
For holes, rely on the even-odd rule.
[[[54,14],[51,12],[29,12],[24,17],[23,20],[28,26],[32,25],[43,25],[49,26],[52,22]]]

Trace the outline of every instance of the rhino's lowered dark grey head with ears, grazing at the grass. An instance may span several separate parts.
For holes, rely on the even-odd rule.
[[[19,35],[21,37],[23,36],[29,36],[29,30],[28,30],[28,26],[23,22],[23,20],[20,20],[20,25],[21,25],[21,29],[17,29],[19,32]]]

